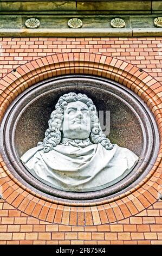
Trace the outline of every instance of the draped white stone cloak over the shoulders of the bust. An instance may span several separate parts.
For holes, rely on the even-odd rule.
[[[131,172],[139,157],[131,150],[113,144],[77,148],[57,145],[44,153],[43,145],[29,149],[22,157],[24,166],[47,184],[65,191],[96,191],[118,182]]]

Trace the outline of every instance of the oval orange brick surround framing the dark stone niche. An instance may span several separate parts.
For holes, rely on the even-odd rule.
[[[137,93],[150,107],[161,139],[161,85],[146,72],[116,58],[93,53],[61,53],[19,66],[0,80],[0,120],[15,97],[33,84],[66,74],[98,75],[119,82]],[[122,220],[148,208],[157,201],[161,153],[151,172],[130,191],[98,203],[62,203],[31,191],[18,181],[0,159],[0,185],[3,199],[25,214],[40,220],[70,225],[96,225]]]

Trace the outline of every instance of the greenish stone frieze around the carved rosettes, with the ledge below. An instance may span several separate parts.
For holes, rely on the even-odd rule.
[[[36,17],[39,28],[26,28],[25,21]],[[125,28],[112,28],[111,20],[118,15],[78,15],[82,20],[81,28],[69,28],[69,15],[1,15],[0,36],[162,36],[162,28],[154,26],[157,15],[120,15]],[[76,16],[75,16],[76,17]]]

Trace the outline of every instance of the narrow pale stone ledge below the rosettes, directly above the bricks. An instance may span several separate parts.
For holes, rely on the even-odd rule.
[[[5,37],[28,37],[28,36],[67,36],[67,37],[89,37],[89,36],[162,36],[162,28],[38,28],[38,29],[0,29],[0,36]]]

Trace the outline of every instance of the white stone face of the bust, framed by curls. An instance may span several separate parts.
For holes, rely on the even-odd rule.
[[[64,110],[62,123],[64,138],[86,139],[90,135],[90,113],[81,101],[70,102]]]

